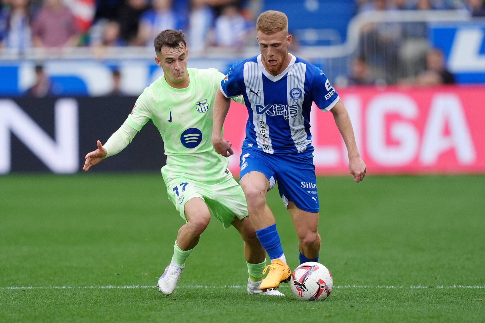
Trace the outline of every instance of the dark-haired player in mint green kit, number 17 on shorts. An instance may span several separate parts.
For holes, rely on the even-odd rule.
[[[167,155],[162,177],[168,198],[186,221],[178,230],[172,260],[158,281],[159,290],[165,295],[175,290],[185,260],[212,216],[224,228],[232,225],[241,234],[249,272],[247,292],[283,295],[259,288],[266,254],[247,217],[241,186],[227,169],[227,159],[214,151],[210,141],[214,97],[224,75],[214,68],[187,68],[188,51],[180,31],[161,32],[154,47],[155,62],[164,76],[138,97],[125,123],[104,146],[97,141],[98,149],[86,155],[83,170],[119,153],[151,119]]]

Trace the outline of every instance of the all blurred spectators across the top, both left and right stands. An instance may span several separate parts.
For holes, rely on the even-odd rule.
[[[164,29],[182,29],[192,53],[208,47],[238,52],[255,45],[255,19],[262,0],[0,0],[0,49],[20,55],[29,48],[152,47]],[[485,0],[356,0],[356,14],[400,10],[468,11],[485,16]],[[454,83],[443,53],[430,48],[425,22],[368,23],[360,30],[349,73],[341,85]],[[294,39],[291,52],[298,53]],[[32,94],[52,91],[42,66]],[[113,72],[113,84],[119,84]],[[122,94],[117,88],[113,95]]]

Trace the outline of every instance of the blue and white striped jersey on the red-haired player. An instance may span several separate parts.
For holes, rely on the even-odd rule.
[[[220,89],[226,97],[244,97],[249,118],[243,146],[270,154],[313,151],[312,102],[323,111],[339,102],[322,70],[294,55],[278,76],[264,69],[261,55],[238,62],[231,66]]]

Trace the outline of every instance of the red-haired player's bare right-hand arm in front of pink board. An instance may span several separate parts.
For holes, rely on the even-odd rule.
[[[335,107],[333,107],[330,111],[333,113],[335,124],[337,125],[337,128],[339,128],[345,146],[347,147],[347,153],[349,154],[350,173],[354,176],[354,180],[358,183],[364,179],[367,166],[365,165],[364,161],[360,159],[349,113],[347,113],[347,109],[345,109],[345,106],[341,100],[339,100]]]

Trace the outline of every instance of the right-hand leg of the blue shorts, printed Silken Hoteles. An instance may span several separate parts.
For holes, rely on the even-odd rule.
[[[288,202],[293,202],[301,210],[318,212],[320,202],[312,159],[283,156],[277,166],[278,190],[285,206],[288,208]]]

